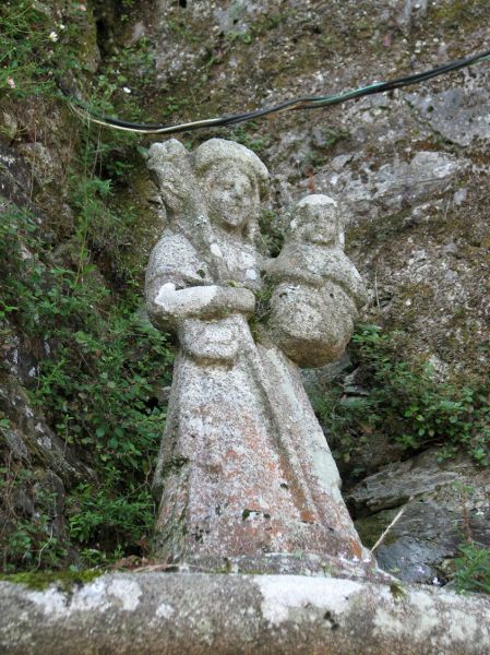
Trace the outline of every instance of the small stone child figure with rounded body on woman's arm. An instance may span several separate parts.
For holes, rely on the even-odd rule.
[[[280,254],[267,264],[274,284],[267,333],[297,365],[335,361],[367,301],[362,279],[344,253],[337,203],[322,194],[295,209]]]

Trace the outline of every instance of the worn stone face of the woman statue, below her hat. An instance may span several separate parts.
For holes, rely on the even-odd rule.
[[[206,177],[210,218],[231,229],[240,229],[259,213],[259,191],[237,166],[217,167]]]

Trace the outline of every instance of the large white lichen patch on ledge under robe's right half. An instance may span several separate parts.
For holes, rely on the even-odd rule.
[[[274,626],[291,618],[291,611],[309,606],[342,615],[351,595],[362,590],[361,583],[351,580],[301,575],[261,575],[255,576],[254,582],[263,596],[262,615]]]

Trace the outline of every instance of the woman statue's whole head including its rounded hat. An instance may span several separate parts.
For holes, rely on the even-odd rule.
[[[268,172],[252,151],[234,141],[211,139],[192,159],[212,223],[241,230],[256,222]]]

